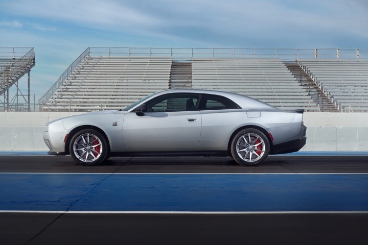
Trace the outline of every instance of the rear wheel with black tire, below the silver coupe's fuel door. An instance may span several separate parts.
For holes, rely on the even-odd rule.
[[[234,160],[243,166],[256,166],[266,160],[270,144],[267,136],[258,129],[239,131],[231,143]]]

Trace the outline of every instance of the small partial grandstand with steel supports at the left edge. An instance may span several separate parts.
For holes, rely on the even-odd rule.
[[[0,110],[30,111],[30,71],[35,65],[34,48],[0,47]],[[18,81],[28,74],[28,94],[21,93]],[[12,86],[15,93],[9,92]],[[19,103],[18,98],[25,103]]]

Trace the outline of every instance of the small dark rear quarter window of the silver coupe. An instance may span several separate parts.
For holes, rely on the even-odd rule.
[[[223,96],[203,94],[199,105],[199,110],[224,110],[224,109],[240,109],[232,100]]]

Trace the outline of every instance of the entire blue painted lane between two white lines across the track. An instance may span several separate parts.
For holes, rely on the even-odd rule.
[[[368,175],[0,174],[0,210],[368,211]]]

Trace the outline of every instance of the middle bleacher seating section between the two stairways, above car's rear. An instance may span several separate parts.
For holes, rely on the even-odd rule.
[[[237,92],[280,109],[317,104],[280,59],[192,58],[193,88]]]

